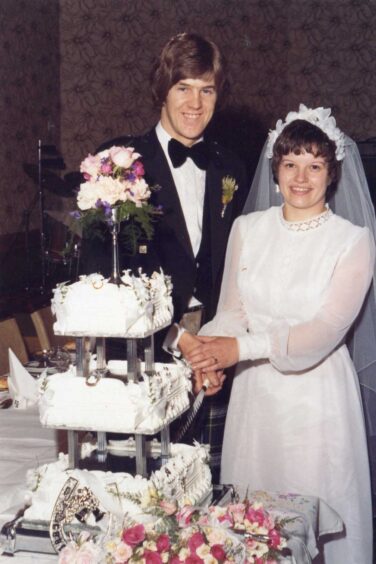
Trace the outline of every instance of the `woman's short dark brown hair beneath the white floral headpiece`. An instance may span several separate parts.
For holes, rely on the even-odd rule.
[[[341,163],[336,159],[336,144],[322,129],[306,120],[297,119],[289,123],[277,137],[272,157],[274,181],[278,182],[278,168],[282,157],[289,153],[300,155],[302,151],[325,159],[330,180],[326,199],[329,199],[336,189],[341,172]]]

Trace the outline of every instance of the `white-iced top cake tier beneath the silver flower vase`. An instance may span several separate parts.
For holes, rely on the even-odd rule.
[[[57,335],[87,337],[144,337],[172,319],[170,277],[148,277],[124,271],[118,286],[101,274],[80,276],[73,284],[59,284],[51,302]]]

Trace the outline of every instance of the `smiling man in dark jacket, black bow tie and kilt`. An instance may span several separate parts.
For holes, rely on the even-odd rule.
[[[148,271],[162,267],[171,276],[176,324],[182,320],[197,324],[200,317],[202,324],[214,316],[228,236],[248,193],[240,159],[204,136],[222,102],[225,84],[224,61],[214,43],[195,34],[173,37],[153,72],[152,94],[160,108],[156,127],[141,137],[120,137],[98,149],[134,147],[141,154],[146,181],[160,186],[152,202],[161,206],[162,216],[155,223],[153,240],[139,245],[132,262],[139,261]],[[180,325],[175,330],[179,332]],[[188,335],[180,339],[183,354],[194,344],[190,338],[195,339]],[[158,340],[162,339],[156,339],[156,345]],[[201,410],[205,431],[201,436],[195,434],[211,444],[215,480],[219,478],[227,399],[219,394],[205,400]]]

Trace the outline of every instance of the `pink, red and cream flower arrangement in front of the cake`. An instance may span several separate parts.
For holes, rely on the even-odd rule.
[[[273,564],[288,552],[281,533],[287,520],[273,519],[258,502],[178,509],[153,489],[138,501],[151,520],[126,518],[97,542],[81,535],[60,552],[59,564]]]

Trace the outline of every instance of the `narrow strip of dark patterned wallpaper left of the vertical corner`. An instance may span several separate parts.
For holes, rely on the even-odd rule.
[[[23,170],[38,139],[59,139],[59,4],[0,1],[0,235],[39,225],[38,187]],[[46,195],[48,204],[54,198]],[[58,204],[59,202],[57,202]]]

